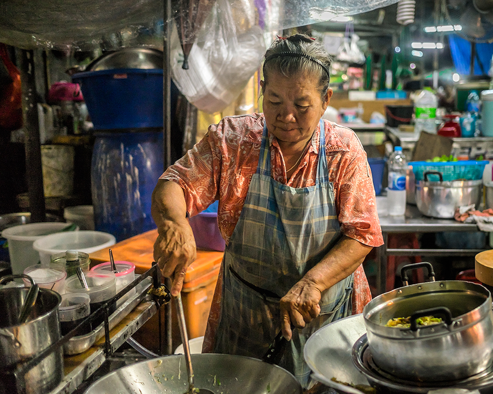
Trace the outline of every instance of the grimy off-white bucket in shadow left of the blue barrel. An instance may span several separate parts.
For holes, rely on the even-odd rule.
[[[42,145],[41,166],[45,197],[70,196],[73,192],[73,157],[71,145]]]

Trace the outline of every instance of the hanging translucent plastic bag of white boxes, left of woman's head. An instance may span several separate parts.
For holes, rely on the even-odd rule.
[[[235,15],[244,19],[243,25]],[[183,51],[176,30],[171,42],[173,81],[189,102],[211,114],[238,98],[266,50],[254,16],[250,20],[248,12],[233,10],[227,0],[217,0],[212,7],[190,50],[188,69],[181,68]]]

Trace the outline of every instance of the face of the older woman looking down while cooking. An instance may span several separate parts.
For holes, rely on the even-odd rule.
[[[269,74],[269,83],[260,81],[263,89],[263,111],[267,130],[283,143],[297,143],[311,138],[332,96],[328,89],[320,98],[317,79],[306,73],[286,77]]]

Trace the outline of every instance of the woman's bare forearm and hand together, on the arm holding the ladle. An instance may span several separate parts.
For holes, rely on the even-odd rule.
[[[160,179],[152,193],[151,213],[159,233],[154,243],[154,260],[163,276],[173,279],[171,295],[177,296],[188,266],[197,257],[181,187]]]

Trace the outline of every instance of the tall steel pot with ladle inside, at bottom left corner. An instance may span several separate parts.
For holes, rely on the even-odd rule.
[[[20,276],[25,275],[5,276],[0,284]],[[19,287],[0,289],[0,369],[22,364],[60,339],[58,307],[62,297],[52,290],[39,289],[26,323],[19,324],[19,312],[28,291]],[[60,347],[26,373],[26,393],[47,393],[60,383],[63,375]],[[0,393],[10,392],[12,388],[0,379]]]

